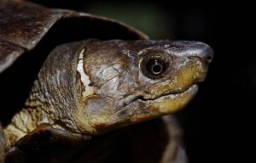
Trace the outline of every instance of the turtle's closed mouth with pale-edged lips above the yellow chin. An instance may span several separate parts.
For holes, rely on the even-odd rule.
[[[198,86],[196,84],[192,85],[191,87],[188,87],[182,91],[176,92],[176,93],[166,93],[162,94],[160,96],[152,97],[152,98],[144,98],[143,95],[130,95],[125,98],[125,106],[133,104],[134,102],[142,102],[144,104],[152,104],[152,103],[158,103],[163,102],[166,100],[172,100],[176,98],[180,98],[185,94],[191,94],[192,96],[195,95],[198,91]]]

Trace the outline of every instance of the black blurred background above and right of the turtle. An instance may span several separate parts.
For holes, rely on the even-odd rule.
[[[144,31],[151,39],[209,44],[215,56],[206,81],[188,107],[177,113],[189,160],[256,162],[256,53],[250,50],[250,4],[164,0],[36,2],[120,20]]]

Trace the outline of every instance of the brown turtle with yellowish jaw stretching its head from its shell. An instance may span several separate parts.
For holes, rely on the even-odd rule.
[[[117,20],[0,0],[0,162],[187,161],[172,113],[212,61]]]

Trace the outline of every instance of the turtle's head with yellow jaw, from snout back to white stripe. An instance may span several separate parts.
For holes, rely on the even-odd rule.
[[[202,42],[90,42],[79,50],[81,107],[75,120],[101,134],[181,110],[204,81],[212,57]]]

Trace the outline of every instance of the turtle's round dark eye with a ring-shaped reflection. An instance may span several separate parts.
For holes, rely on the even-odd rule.
[[[140,68],[143,74],[151,79],[160,79],[166,76],[172,59],[167,53],[147,53],[141,58]]]

